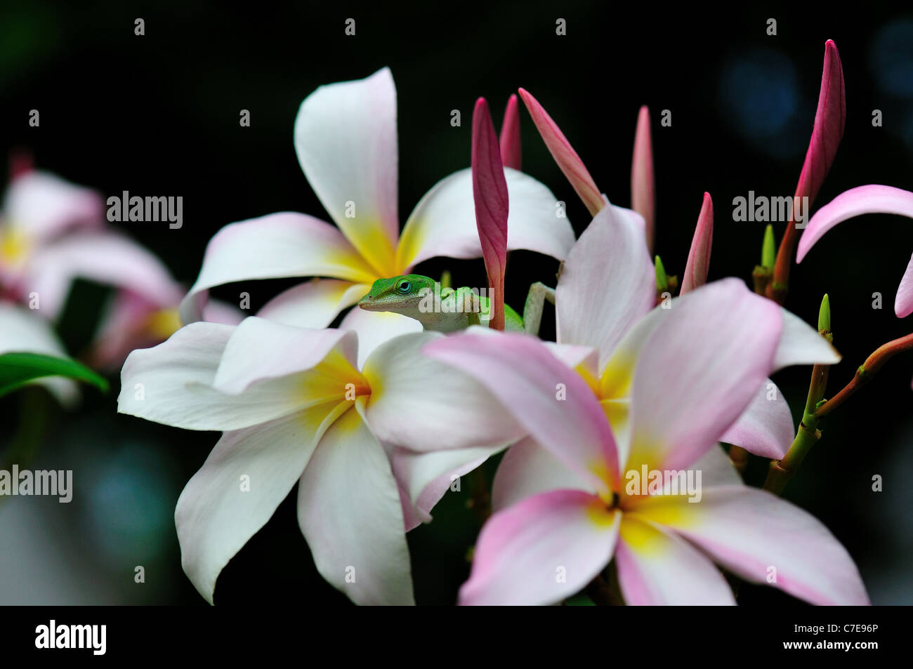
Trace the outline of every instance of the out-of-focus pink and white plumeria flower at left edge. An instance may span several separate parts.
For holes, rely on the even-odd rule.
[[[93,365],[120,367],[131,350],[181,327],[177,306],[184,288],[158,258],[106,225],[99,193],[47,172],[17,173],[0,215],[0,298],[56,321],[76,278],[117,288],[89,354]],[[214,302],[205,318],[236,324],[242,316]],[[30,340],[23,338],[16,350],[52,352],[29,348]]]

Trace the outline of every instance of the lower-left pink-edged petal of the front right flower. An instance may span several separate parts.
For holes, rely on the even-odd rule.
[[[620,517],[579,490],[543,493],[500,511],[478,535],[459,603],[551,604],[582,590],[612,559]]]

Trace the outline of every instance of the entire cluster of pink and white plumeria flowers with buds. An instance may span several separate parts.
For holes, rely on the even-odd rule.
[[[520,171],[519,100],[592,216],[579,239],[551,191]],[[829,41],[797,198],[818,192],[844,118]],[[609,202],[525,89],[509,99],[499,136],[477,101],[470,167],[425,193],[402,230],[397,141],[388,69],[315,90],[295,120],[295,150],[335,225],[289,212],[226,225],[186,294],[100,223],[94,193],[29,171],[7,195],[0,337],[16,323],[36,350],[62,353],[13,303],[35,292],[40,315],[54,319],[73,277],[113,284],[95,360],[136,349],[121,371],[119,411],[222,433],[175,510],[184,571],[207,601],[297,484],[299,528],[322,577],[355,603],[412,604],[406,533],[431,522],[456,479],[500,455],[460,603],[553,604],[585,591],[599,603],[732,604],[726,574],[812,603],[868,603],[843,546],[778,497],[820,436],[817,421],[855,391],[824,399],[826,370],[840,360],[829,312],[815,329],[781,304],[797,240],[801,260],[848,218],[913,217],[913,193],[883,185],[844,193],[801,237],[791,222],[776,257],[769,232],[750,290],[737,278],[707,282],[708,193],[680,280],[651,256],[646,108],[630,209]],[[511,249],[561,261],[555,341],[504,331]],[[375,281],[435,256],[484,259],[487,326],[444,334],[396,313],[347,311]],[[308,280],[243,320],[208,298],[214,287],[278,277]],[[896,310],[913,312],[913,261]],[[898,341],[873,354],[856,386],[913,346]],[[4,350],[27,349],[0,339]],[[798,427],[770,379],[791,365],[813,366]],[[763,489],[741,479],[748,453],[771,463]]]

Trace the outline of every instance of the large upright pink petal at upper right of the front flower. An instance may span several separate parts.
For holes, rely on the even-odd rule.
[[[744,413],[771,370],[782,316],[739,279],[679,298],[637,359],[628,468],[684,469]]]

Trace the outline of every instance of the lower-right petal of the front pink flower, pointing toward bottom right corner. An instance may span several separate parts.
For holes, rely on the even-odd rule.
[[[813,604],[869,603],[859,570],[834,535],[803,509],[764,490],[705,486],[698,504],[651,497],[637,513],[675,529],[750,582],[771,582]]]

